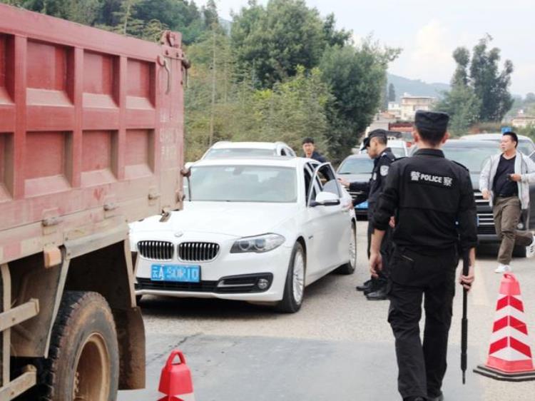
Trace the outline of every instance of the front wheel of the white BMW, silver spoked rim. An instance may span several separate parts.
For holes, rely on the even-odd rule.
[[[296,313],[301,309],[305,296],[305,250],[300,243],[295,243],[290,257],[290,265],[286,275],[284,295],[277,304],[277,310],[283,313]]]

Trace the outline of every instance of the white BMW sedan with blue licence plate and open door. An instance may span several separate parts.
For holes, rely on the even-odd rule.
[[[357,260],[355,211],[329,163],[196,163],[190,200],[131,225],[136,295],[223,298],[300,309],[305,287]]]

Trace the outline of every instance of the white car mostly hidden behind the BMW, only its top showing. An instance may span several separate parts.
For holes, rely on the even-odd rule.
[[[290,156],[295,157],[295,151],[284,142],[230,142],[221,141],[213,144],[205,152],[201,160],[206,158],[223,157],[252,157],[252,156]]]

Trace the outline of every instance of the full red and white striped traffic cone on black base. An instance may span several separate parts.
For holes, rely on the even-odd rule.
[[[501,278],[492,329],[489,358],[474,372],[496,380],[524,382],[535,380],[531,340],[524,320],[520,283],[511,273]]]

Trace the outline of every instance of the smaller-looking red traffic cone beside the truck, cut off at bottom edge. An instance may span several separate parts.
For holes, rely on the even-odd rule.
[[[173,362],[175,357],[178,357],[180,362]],[[165,397],[158,401],[195,401],[190,368],[179,350],[174,350],[169,355],[162,369],[158,391],[165,394]]]

